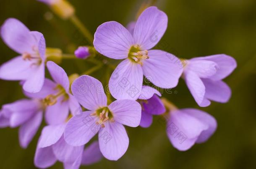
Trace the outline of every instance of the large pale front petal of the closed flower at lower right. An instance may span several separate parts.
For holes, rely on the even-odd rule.
[[[203,121],[183,113],[182,110],[171,112],[167,124],[167,136],[172,145],[180,151],[190,149],[200,134],[209,129]]]

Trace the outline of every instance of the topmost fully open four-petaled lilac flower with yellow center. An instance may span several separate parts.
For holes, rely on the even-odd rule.
[[[180,60],[162,50],[149,50],[162,38],[167,20],[164,12],[149,7],[138,18],[133,34],[115,21],[97,28],[95,49],[109,58],[125,59],[110,77],[109,88],[114,98],[136,100],[141,93],[143,75],[161,88],[177,86],[182,73]]]

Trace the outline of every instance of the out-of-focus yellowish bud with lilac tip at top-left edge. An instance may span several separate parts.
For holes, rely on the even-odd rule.
[[[75,9],[67,0],[38,0],[50,6],[52,11],[63,19],[68,19],[75,13]]]

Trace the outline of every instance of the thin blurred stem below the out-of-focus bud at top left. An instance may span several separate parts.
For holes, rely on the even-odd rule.
[[[84,37],[89,41],[89,43],[93,44],[93,36],[89,32],[89,30],[84,26],[84,24],[76,17],[76,15],[71,16],[71,22],[76,25],[76,27],[81,31]]]

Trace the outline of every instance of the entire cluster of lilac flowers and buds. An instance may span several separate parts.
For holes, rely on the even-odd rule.
[[[67,3],[40,1],[62,12],[58,4]],[[205,142],[217,128],[214,117],[195,108],[178,109],[156,87],[174,88],[181,77],[199,106],[209,106],[210,101],[226,103],[231,90],[222,79],[236,68],[236,61],[225,54],[184,60],[152,49],[167,30],[167,22],[163,11],[149,7],[128,28],[115,21],[99,25],[93,46],[80,46],[75,51],[80,59],[103,55],[123,60],[108,79],[110,93],[106,95],[96,78],[68,76],[50,61],[42,33],[30,31],[17,19],[7,19],[1,37],[19,55],[0,67],[0,78],[20,81],[27,98],[2,106],[0,127],[19,127],[20,145],[26,148],[44,117],[47,126],[42,129],[34,156],[39,168],[56,161],[63,162],[65,169],[78,169],[102,157],[118,160],[129,145],[125,126],[149,127],[153,115],[166,119],[167,136],[176,149],[185,151]],[[52,80],[44,77],[45,67]],[[143,85],[144,77],[154,86]],[[93,139],[96,134],[98,139]]]

